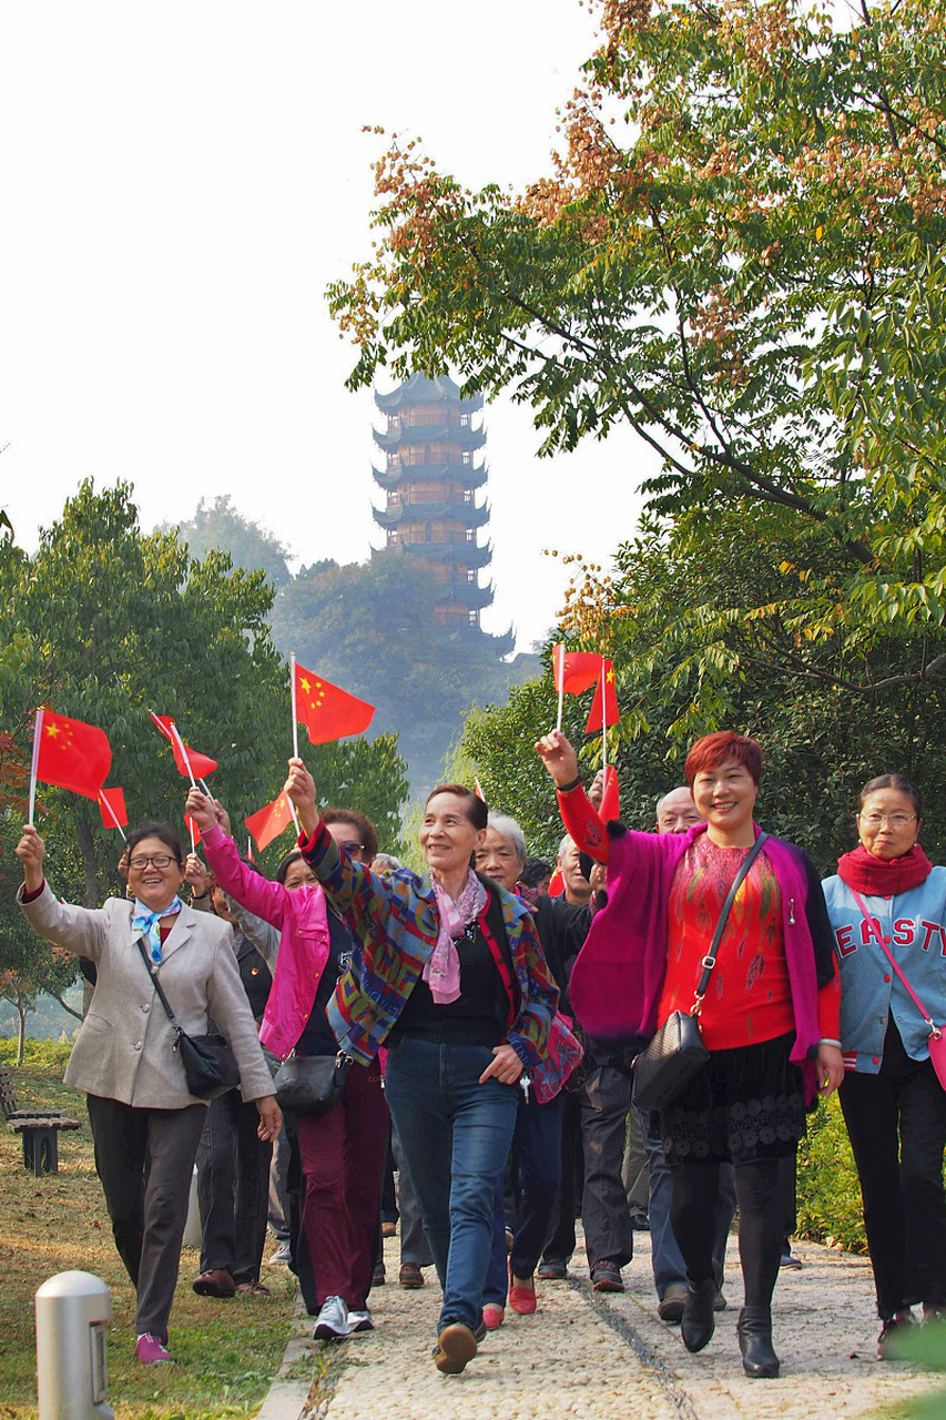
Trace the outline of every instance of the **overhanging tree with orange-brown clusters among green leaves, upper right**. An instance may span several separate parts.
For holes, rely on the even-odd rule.
[[[330,293],[351,383],[459,369],[467,393],[528,403],[544,453],[629,423],[662,459],[645,493],[679,557],[712,557],[724,513],[790,544],[780,672],[804,680],[827,646],[866,706],[928,687],[946,669],[946,6],[599,14],[551,176],[469,192],[396,139],[378,162],[378,254]]]

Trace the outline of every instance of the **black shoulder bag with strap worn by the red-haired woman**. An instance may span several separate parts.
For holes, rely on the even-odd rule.
[[[729,889],[723,910],[716,923],[710,949],[700,963],[702,971],[693,1005],[689,1011],[673,1011],[651,1044],[641,1051],[634,1062],[634,1103],[638,1109],[668,1109],[709,1059],[709,1051],[703,1045],[699,1022],[700,1005],[703,1004],[709,978],[716,966],[716,953],[719,951],[736,893],[743,878],[746,878],[749,869],[759,858],[767,838],[768,834],[759,835],[736,873],[733,886]]]

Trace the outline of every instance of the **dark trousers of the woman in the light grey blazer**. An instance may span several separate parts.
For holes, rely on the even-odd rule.
[[[95,1172],[118,1255],[138,1291],[135,1331],[168,1340],[206,1105],[135,1109],[88,1095]]]

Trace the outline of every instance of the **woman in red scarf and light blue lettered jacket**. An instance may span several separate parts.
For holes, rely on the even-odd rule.
[[[946,1020],[946,868],[919,846],[920,797],[902,774],[861,790],[859,845],[824,883],[841,963],[839,1098],[864,1196],[881,1358],[923,1315],[946,1311],[946,1092],[929,1058],[918,1001]]]

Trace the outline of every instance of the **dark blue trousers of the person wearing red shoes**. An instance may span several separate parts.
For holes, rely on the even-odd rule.
[[[561,1099],[540,1105],[533,1093],[528,1099],[520,1091],[513,1135],[513,1191],[517,1201],[517,1223],[513,1250],[506,1258],[506,1208],[503,1179],[496,1189],[493,1214],[493,1250],[483,1288],[483,1301],[506,1306],[509,1271],[514,1277],[531,1277],[548,1234],[555,1193],[561,1180]]]

